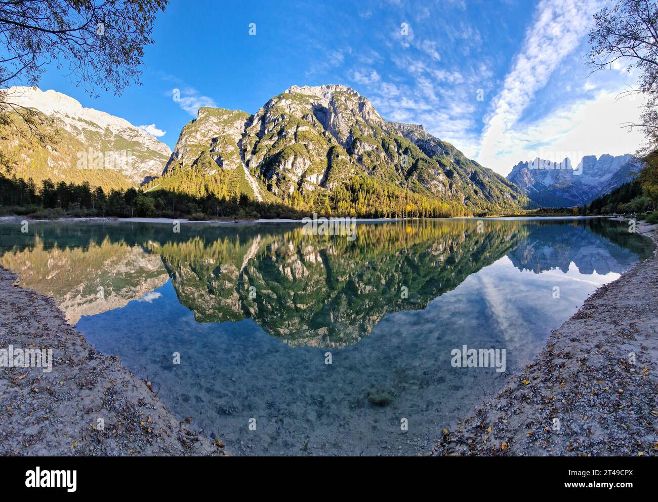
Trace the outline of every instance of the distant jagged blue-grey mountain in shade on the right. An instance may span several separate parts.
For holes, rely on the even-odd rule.
[[[519,162],[507,180],[540,206],[582,206],[634,179],[642,165],[630,153],[616,157],[605,154],[598,159],[587,155],[576,169],[568,158],[561,163],[535,159]]]

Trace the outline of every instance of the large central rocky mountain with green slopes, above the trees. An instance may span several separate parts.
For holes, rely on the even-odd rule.
[[[526,196],[422,125],[385,121],[340,85],[292,86],[255,113],[201,108],[149,189],[314,200],[354,177],[468,211],[517,208]]]

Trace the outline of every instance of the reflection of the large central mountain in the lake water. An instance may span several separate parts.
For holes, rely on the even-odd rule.
[[[486,233],[474,229],[467,220],[449,229],[426,221],[386,223],[360,225],[353,243],[304,239],[295,229],[243,234],[238,242],[149,242],[148,249],[160,254],[196,321],[251,318],[293,347],[340,348],[369,335],[388,313],[426,308],[526,235],[524,227],[504,224]]]

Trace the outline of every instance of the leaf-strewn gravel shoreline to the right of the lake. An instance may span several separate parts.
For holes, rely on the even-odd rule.
[[[638,231],[656,240],[658,225]],[[658,456],[657,362],[655,256],[597,289],[431,454]]]

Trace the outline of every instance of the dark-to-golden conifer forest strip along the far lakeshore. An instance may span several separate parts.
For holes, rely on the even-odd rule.
[[[241,169],[235,171],[244,174]],[[318,189],[302,194],[295,190],[283,202],[257,202],[246,192],[218,196],[208,185],[207,177],[199,177],[199,182],[195,182],[194,173],[186,171],[190,175],[186,183],[181,183],[180,177],[177,177],[173,186],[161,182],[152,190],[129,188],[125,191],[111,190],[107,195],[103,188],[91,188],[88,183],[59,182],[55,185],[45,180],[38,188],[31,180],[25,182],[0,175],[0,206],[13,207],[14,213],[22,211],[20,208],[31,208],[34,212],[59,209],[69,215],[73,211],[82,216],[93,212],[93,215],[118,217],[198,217],[199,213],[203,213],[207,217],[300,218],[314,212],[384,218],[470,215],[459,204],[418,195],[367,175],[350,177],[333,192]],[[237,173],[233,174],[237,177]],[[227,181],[230,182],[230,178]],[[240,186],[240,183],[231,182],[231,186]],[[190,191],[185,192],[186,189]]]

